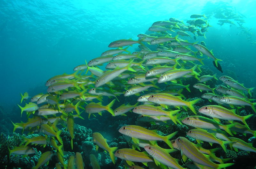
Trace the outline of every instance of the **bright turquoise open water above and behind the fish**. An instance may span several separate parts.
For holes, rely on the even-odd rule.
[[[219,19],[212,16],[209,19],[212,27],[205,34],[207,39],[198,37],[192,41],[205,41],[207,48],[223,60],[220,62],[222,74],[213,67],[212,60],[205,59],[206,66],[214,73],[219,76],[232,74],[248,88],[255,87],[256,2],[223,2],[246,17],[243,27],[247,31],[241,33],[237,24],[220,26]],[[114,40],[137,40],[137,35],[145,33],[155,21],[172,17],[186,22],[190,15],[207,13],[218,7],[218,3],[198,0],[1,0],[0,106],[7,114],[12,111],[12,115],[16,115],[18,110],[11,120],[26,121],[26,117],[20,119],[17,107],[20,93],[34,96],[45,92],[45,82],[50,77],[73,73],[75,66],[99,57]],[[129,50],[136,48],[137,44]]]

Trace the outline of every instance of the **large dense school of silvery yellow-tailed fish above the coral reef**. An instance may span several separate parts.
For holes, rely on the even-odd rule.
[[[251,130],[246,123],[246,119],[254,114],[240,116],[237,113],[240,106],[249,106],[256,112],[256,103],[253,103],[255,99],[248,98],[252,97],[253,88],[247,88],[237,79],[228,76],[217,78],[216,74],[200,75],[204,59],[212,59],[216,68],[221,61],[206,48],[203,41],[195,42],[197,36],[205,37],[205,32],[210,27],[209,22],[202,17],[207,19],[205,15],[191,15],[192,20],[187,21],[188,25],[176,18],[156,21],[148,29],[152,33],[138,34],[138,40],[115,40],[108,45],[114,49],[76,66],[73,74],[51,77],[45,84],[48,87],[47,92],[33,97],[29,97],[27,92],[21,94],[20,103],[30,99],[24,107],[19,105],[21,115],[26,112],[28,121],[12,122],[13,132],[21,129],[28,133],[40,132],[41,136],[22,137],[20,146],[9,153],[25,157],[36,152],[31,147],[32,144],[50,144],[55,151],[44,152],[35,169],[48,164],[53,155],[57,155],[60,162],[56,163],[56,168],[84,168],[80,152],[70,156],[68,164],[64,164],[61,130],[57,127],[59,124],[66,125],[73,149],[74,119],[83,119],[81,110],[89,118],[91,115],[97,118],[97,114],[102,115],[103,111],[112,116],[125,116],[125,113],[133,112],[134,116],[139,115],[138,121],[155,125],[183,124],[196,128],[189,130],[187,136],[194,138],[198,144],[189,141],[188,137],[180,136],[171,140],[177,135],[177,131],[162,136],[156,130],[139,125],[125,125],[118,131],[120,135],[123,134],[124,139],[132,143],[131,149],[109,147],[106,139],[100,133],[94,132],[92,142],[96,144],[96,149],[100,147],[107,151],[114,164],[116,158],[125,160],[126,168],[139,169],[145,165],[148,168],[164,169],[219,169],[234,164],[232,159],[229,159],[230,163],[225,163],[228,160],[215,156],[214,152],[220,151],[220,148],[204,149],[200,144],[203,142],[219,144],[225,152],[227,149],[256,152],[250,143],[233,137],[236,132],[256,136],[256,131]],[[129,50],[134,44],[139,44],[140,51]],[[104,63],[106,70],[100,68]],[[198,83],[183,85],[187,79],[195,79]],[[223,85],[216,88],[205,85],[211,80],[220,80]],[[198,89],[198,92],[204,91],[202,99],[209,99],[213,104],[196,110],[194,105],[201,99],[188,99],[182,94],[184,89],[190,92],[192,87]],[[110,98],[109,101],[103,102],[106,97]],[[137,103],[125,104],[126,97],[137,100]],[[116,108],[113,110],[113,107]],[[183,110],[192,112],[193,115],[181,118],[184,115]],[[220,120],[227,123],[223,124]],[[160,147],[157,141],[163,141],[169,148]],[[177,151],[180,151],[183,163],[172,157],[172,152]],[[93,154],[90,155],[90,161],[93,169],[100,168]]]

